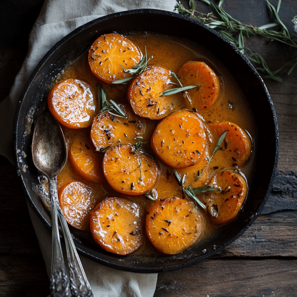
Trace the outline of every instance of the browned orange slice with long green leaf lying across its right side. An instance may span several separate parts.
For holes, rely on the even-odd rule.
[[[180,108],[181,93],[160,97],[162,92],[174,88],[171,81],[176,80],[169,69],[148,66],[128,88],[128,101],[133,111],[143,118],[157,120]]]

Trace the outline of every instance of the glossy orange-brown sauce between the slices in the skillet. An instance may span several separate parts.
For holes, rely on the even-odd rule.
[[[129,40],[134,42],[142,53],[145,53],[145,47],[147,52],[147,57],[154,56],[148,62],[148,65],[160,65],[162,67],[166,67],[171,69],[173,72],[177,73],[179,67],[187,61],[203,61],[205,62],[211,69],[217,74],[221,83],[221,90],[219,99],[216,103],[208,108],[207,110],[203,110],[200,112],[200,117],[206,127],[205,132],[207,134],[206,141],[208,146],[206,147],[205,157],[210,157],[212,152],[214,151],[214,147],[216,144],[216,140],[213,139],[213,136],[210,134],[209,124],[217,121],[230,121],[236,123],[242,129],[248,131],[251,135],[252,139],[255,139],[255,129],[253,126],[253,119],[251,113],[249,111],[247,102],[241,93],[241,90],[236,86],[233,78],[228,74],[227,70],[222,66],[220,61],[214,59],[214,57],[208,55],[202,48],[189,42],[187,40],[177,39],[175,37],[166,37],[155,34],[130,34],[127,36]],[[61,80],[66,78],[76,78],[79,80],[83,80],[91,85],[91,91],[93,93],[94,98],[97,99],[97,89],[96,84],[98,80],[92,76],[89,70],[88,64],[88,52],[83,53],[76,61],[74,61],[71,65],[69,65],[62,75],[56,80],[55,83],[58,83]],[[100,82],[107,94],[107,99],[112,98],[117,103],[127,103],[127,86],[128,85],[110,85]],[[182,93],[180,93],[182,94]],[[182,109],[184,107],[184,103],[182,100],[182,95],[180,95],[180,99],[174,102],[178,109]],[[143,141],[147,141],[148,145],[146,149],[148,149],[151,153],[152,150],[150,148],[151,135],[154,131],[154,128],[159,123],[159,121],[142,119],[145,122],[145,137]],[[62,127],[65,135],[65,139],[67,142],[67,147],[69,148],[72,138],[76,135],[89,135],[90,127],[83,129],[68,129]],[[253,143],[253,146],[255,143]],[[253,164],[253,154],[251,159],[243,166],[238,168],[241,173],[247,178],[247,182],[249,182],[250,174],[252,171]],[[178,188],[178,183],[173,175],[173,171],[171,168],[165,166],[157,159],[157,163],[159,165],[159,177],[154,185],[154,189],[158,193],[158,199],[160,198],[168,198],[172,196],[182,197],[182,193]],[[199,164],[195,164],[188,168],[177,169],[181,176],[184,173],[187,174],[185,180],[185,186],[192,184],[193,181],[197,178],[197,171],[203,170],[207,164],[207,161],[203,159]],[[228,165],[228,166],[227,166]],[[226,168],[227,166],[227,168]],[[220,151],[214,156],[213,161],[209,165],[209,170],[206,170],[201,176],[198,182],[195,182],[193,187],[200,187],[204,184],[208,184],[211,178],[217,174],[222,172],[225,169],[235,169],[232,167],[230,162],[227,162],[224,158],[224,154]],[[213,169],[215,168],[215,169]],[[80,180],[94,188],[95,195],[97,196],[97,203],[99,203],[105,197],[126,197],[132,202],[137,203],[140,206],[140,210],[143,214],[146,213],[147,206],[151,205],[153,201],[145,198],[144,196],[127,196],[116,192],[113,190],[104,179],[102,184],[95,184],[92,182],[88,182],[83,180],[80,176],[76,175],[67,160],[67,163],[62,170],[62,172],[58,176],[58,191],[61,186],[71,180]],[[97,204],[96,203],[96,204]],[[204,230],[202,231],[202,235],[198,239],[198,242],[203,241],[204,238],[209,236],[210,233],[214,232],[215,227],[211,224],[210,219],[206,212],[202,211],[198,207],[198,211],[203,217],[203,225]],[[145,221],[145,218],[143,219]],[[145,223],[143,223],[143,234],[145,234]],[[83,234],[83,232],[82,232]],[[86,237],[90,238],[89,234],[85,234]],[[135,253],[157,253],[156,250],[152,247],[149,240],[144,236],[144,244],[140,247]],[[99,247],[98,247],[99,248]]]

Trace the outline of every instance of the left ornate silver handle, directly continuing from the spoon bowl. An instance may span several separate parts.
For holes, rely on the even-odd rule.
[[[48,189],[50,193],[51,211],[52,211],[52,264],[50,276],[50,296],[66,297],[69,296],[69,279],[66,273],[57,214],[57,180],[49,179]]]

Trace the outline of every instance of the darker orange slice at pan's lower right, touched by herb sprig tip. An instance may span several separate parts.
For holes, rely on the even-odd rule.
[[[216,174],[209,185],[221,190],[204,195],[211,221],[217,225],[230,222],[237,216],[247,195],[245,178],[239,173],[227,170]]]

